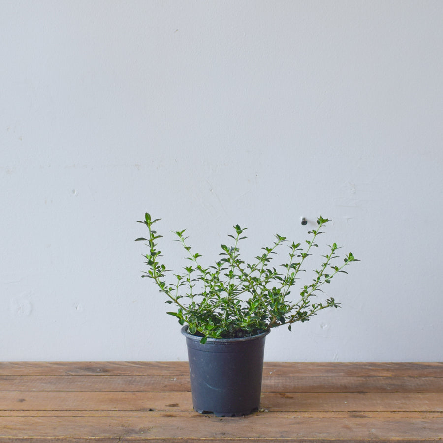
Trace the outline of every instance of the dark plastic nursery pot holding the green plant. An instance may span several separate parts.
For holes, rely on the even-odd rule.
[[[188,345],[188,359],[195,411],[217,417],[234,417],[260,406],[263,353],[269,331],[253,337],[211,339],[181,330]]]

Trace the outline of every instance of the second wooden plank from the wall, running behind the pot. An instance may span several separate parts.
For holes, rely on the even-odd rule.
[[[190,377],[177,376],[0,376],[0,391],[190,391]],[[443,393],[440,377],[263,377],[263,392]]]

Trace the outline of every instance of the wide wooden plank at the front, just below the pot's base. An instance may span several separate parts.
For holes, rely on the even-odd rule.
[[[353,441],[371,439],[438,440],[442,419],[407,421],[388,418],[293,418],[279,414],[216,418],[175,417],[8,417],[0,419],[0,441],[19,438],[90,438],[162,441]]]

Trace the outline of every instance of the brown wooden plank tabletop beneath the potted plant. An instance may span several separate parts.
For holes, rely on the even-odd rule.
[[[192,410],[186,362],[0,362],[0,443],[428,442],[443,363],[265,363],[262,410]]]

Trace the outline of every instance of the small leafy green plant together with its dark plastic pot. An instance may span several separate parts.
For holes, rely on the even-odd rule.
[[[316,229],[308,232],[310,239],[303,246],[276,234],[273,244],[263,247],[253,263],[241,258],[239,243],[246,238],[246,228],[235,225],[234,234],[229,235],[232,246],[221,245],[220,258],[208,267],[199,263],[199,253],[191,252],[182,230],[175,232],[176,240],[190,263],[168,281],[169,271],[157,248],[162,236],[153,228],[159,220],[146,213],[139,221],[149,234],[136,240],[147,242],[149,248],[144,255],[148,270],[142,277],[154,280],[166,303],[174,307],[167,314],[177,317],[182,325],[194,409],[216,416],[249,414],[259,408],[266,335],[272,328],[287,325],[291,330],[295,322],[308,321],[326,308],[338,308],[340,303],[334,298],[319,300],[317,296],[325,284],[339,273],[346,274],[344,268],[358,260],[348,253],[337,265],[339,247],[328,245],[314,278],[295,295],[291,289],[304,271],[305,260],[318,247],[317,237],[328,219],[317,219]],[[287,260],[274,267],[272,259],[285,243],[289,246]]]

